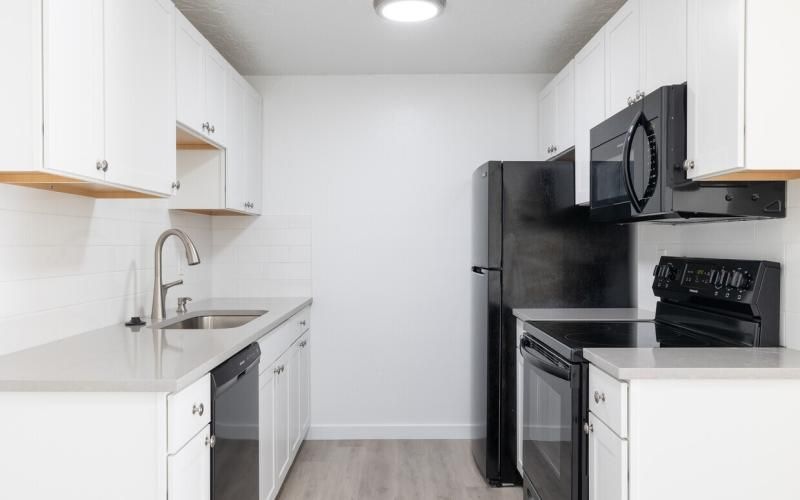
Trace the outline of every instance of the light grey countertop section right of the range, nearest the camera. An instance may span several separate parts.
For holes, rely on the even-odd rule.
[[[618,380],[800,378],[800,351],[783,347],[601,348],[583,357]]]

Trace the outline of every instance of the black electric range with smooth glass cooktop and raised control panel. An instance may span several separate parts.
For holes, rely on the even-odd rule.
[[[588,364],[603,347],[773,347],[780,264],[662,257],[650,321],[531,321],[522,355],[522,462],[530,500],[588,499]]]

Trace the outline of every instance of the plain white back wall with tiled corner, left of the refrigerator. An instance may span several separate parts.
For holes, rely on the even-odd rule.
[[[547,80],[251,79],[264,96],[265,209],[275,217],[246,228],[214,221],[215,255],[239,261],[236,278],[223,285],[215,273],[214,283],[281,295],[303,292],[297,281],[313,277],[312,437],[472,431],[471,174],[488,160],[535,158]],[[268,234],[290,216],[310,221],[311,234]],[[312,235],[308,259],[301,247]],[[268,262],[248,277],[253,261],[240,258],[269,260],[275,246],[300,261],[281,267],[294,281],[286,293]]]

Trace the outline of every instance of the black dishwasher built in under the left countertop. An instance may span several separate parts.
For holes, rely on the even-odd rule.
[[[251,344],[211,372],[212,500],[258,500],[258,362]]]

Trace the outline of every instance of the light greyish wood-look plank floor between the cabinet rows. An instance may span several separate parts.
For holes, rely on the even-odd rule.
[[[306,441],[278,500],[520,500],[490,488],[469,441]]]

